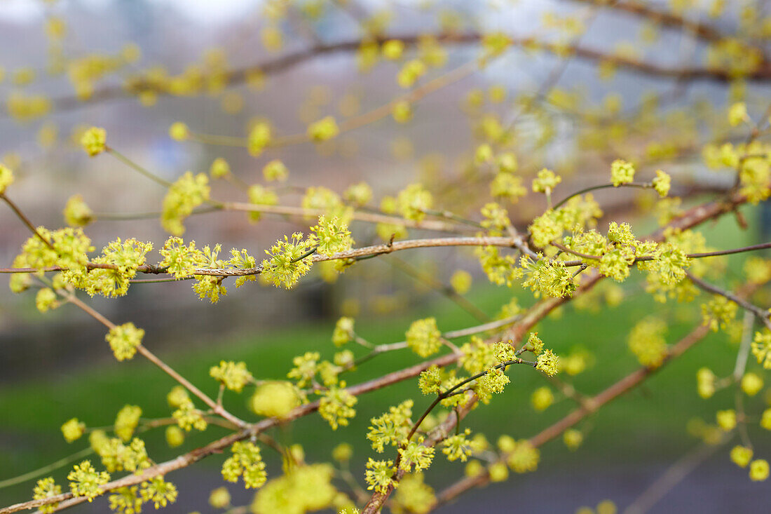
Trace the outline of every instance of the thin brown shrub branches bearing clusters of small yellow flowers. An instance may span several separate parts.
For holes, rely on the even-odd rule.
[[[675,29],[692,29],[709,42],[709,66],[679,69],[675,73],[623,52],[597,55],[578,42],[583,29],[576,27],[585,22],[580,17],[553,17],[545,21],[571,36],[561,45],[535,39],[517,41],[498,32],[386,38],[382,31],[370,28],[372,37],[362,39],[353,48],[363,69],[375,66],[381,58],[399,63],[395,81],[407,92],[389,103],[345,120],[322,117],[308,123],[307,130],[300,134],[281,135],[264,120],[254,123],[246,137],[200,134],[182,122],[171,124],[169,134],[177,141],[240,147],[254,157],[303,142],[322,147],[341,134],[385,117],[408,123],[424,96],[484,69],[516,46],[534,46],[565,59],[594,59],[599,63],[600,73],[629,68],[682,79],[705,76],[738,82],[762,78],[769,69],[763,49],[753,46],[752,38],[743,42],[724,37],[709,25],[691,22],[676,13],[664,15],[645,6],[632,8],[625,2],[611,2],[605,7],[601,6],[604,2],[582,3],[589,5],[590,14],[599,8],[628,8],[644,19]],[[375,24],[375,20],[367,22]],[[362,22],[362,26],[367,24]],[[268,29],[262,34],[265,46],[280,47],[281,31],[277,32],[275,27]],[[431,69],[445,66],[447,60],[445,42],[476,44],[480,51],[475,59],[434,76]],[[412,47],[416,47],[414,56],[410,55]],[[325,50],[328,51],[332,50]],[[317,53],[322,53],[322,49],[311,52]],[[86,59],[82,66],[87,63]],[[220,69],[212,71],[207,80],[256,83],[260,79],[257,72],[247,69],[240,74],[228,74]],[[75,80],[76,92],[84,103],[107,94],[94,95],[94,77],[86,74]],[[538,95],[540,99],[528,100],[523,109],[534,110],[535,103],[547,100],[555,107],[571,110],[571,95],[558,90],[555,80],[548,79]],[[142,102],[154,103],[157,96],[194,95],[200,87],[190,76],[136,76],[126,92]],[[497,98],[503,93],[490,91],[490,97]],[[476,96],[470,94],[471,106],[479,103]],[[39,116],[52,108],[41,99],[15,98],[8,103],[12,115],[22,118]],[[0,269],[10,275],[11,290],[36,290],[35,305],[41,313],[66,306],[82,309],[105,327],[106,344],[116,360],[132,360],[138,354],[177,383],[167,394],[168,418],[146,419],[142,417],[141,406],[126,405],[117,412],[112,428],[92,428],[79,418],[64,422],[61,431],[66,441],[79,441],[87,435],[93,458],[73,465],[66,483],[57,484],[52,477],[40,478],[32,500],[0,508],[0,514],[23,509],[56,512],[92,502],[101,495],[107,496],[109,508],[116,512],[141,512],[149,505],[158,509],[177,500],[177,488],[167,481],[167,475],[222,453],[226,455],[221,465],[222,478],[257,490],[250,506],[251,512],[257,514],[328,508],[374,513],[383,506],[394,512],[429,512],[466,490],[506,480],[510,471],[534,472],[540,460],[540,447],[547,441],[563,437],[568,448],[578,448],[584,440],[582,420],[644,383],[710,331],[732,333],[737,326],[742,342],[736,350],[734,372],[729,377],[718,377],[709,367],[702,367],[695,377],[695,390],[708,398],[722,389],[736,389],[734,404],[715,414],[719,431],[739,437],[740,444],[727,451],[726,458],[746,468],[750,480],[765,481],[769,456],[756,455],[748,426],[758,424],[763,430],[771,430],[771,409],[748,413],[742,395],[753,396],[761,391],[763,374],[771,369],[769,310],[754,303],[752,296],[771,280],[771,265],[765,259],[752,257],[747,260],[743,284],[723,289],[713,281],[714,270],[719,269],[717,263],[723,256],[759,252],[771,248],[771,242],[713,249],[706,244],[699,228],[723,216],[739,216],[743,205],[756,205],[771,195],[769,113],[771,107],[755,111],[743,101],[732,103],[722,113],[723,123],[732,127],[732,134],[739,134],[742,142],[736,142],[736,137],[722,137],[702,145],[700,150],[707,166],[731,174],[732,186],[687,209],[682,208],[680,198],[670,196],[682,186],[665,171],[678,155],[676,148],[648,147],[648,161],[635,156],[632,150],[619,151],[603,165],[604,181],[571,192],[567,188],[570,181],[562,176],[559,167],[542,167],[537,158],[526,157],[526,151],[514,151],[512,127],[504,126],[497,117],[480,117],[480,142],[470,152],[473,174],[469,181],[483,184],[483,188],[475,190],[473,209],[456,208],[436,193],[431,184],[419,181],[411,181],[396,194],[382,195],[379,208],[372,203],[377,191],[366,182],[352,184],[342,193],[312,186],[305,189],[299,205],[288,205],[277,184],[288,181],[291,172],[278,159],[261,167],[264,184],[243,183],[222,157],[211,164],[209,174],[187,171],[176,180],[167,181],[116,150],[109,130],[90,127],[79,138],[89,157],[116,159],[165,188],[158,218],[170,234],[159,242],[115,238],[99,251],[87,228],[99,221],[99,215],[81,196],[66,202],[64,218],[69,226],[36,226],[11,199],[15,188],[12,167],[0,165],[0,199],[29,230],[29,238],[20,243],[12,265]],[[215,198],[211,181],[232,181],[244,186],[248,201]],[[463,183],[456,185],[463,187]],[[643,223],[632,227],[628,222],[610,221],[606,228],[599,222],[604,216],[604,205],[593,196],[594,191],[605,189],[650,190],[641,193],[648,195],[648,203],[656,205],[659,228],[646,235],[641,235]],[[522,205],[524,198],[540,207],[526,228],[517,228],[511,220],[517,214],[513,206]],[[279,238],[269,249],[227,252],[220,243],[201,246],[183,238],[190,216],[232,211],[247,213],[251,221],[259,221],[264,215],[288,216],[298,220],[301,228]],[[365,232],[359,230],[362,225],[373,225],[382,242],[356,245],[355,240],[369,241]],[[116,298],[130,294],[133,283],[148,281],[140,276],[156,276],[149,279],[152,282],[189,281],[195,296],[217,303],[231,285],[255,287],[259,280],[292,289],[317,268],[322,276],[334,279],[353,266],[368,265],[362,262],[366,259],[442,247],[472,248],[482,272],[493,285],[529,291],[530,305],[520,307],[515,301],[503,306],[496,320],[482,319],[479,324],[461,330],[443,331],[433,317],[415,320],[403,341],[380,344],[365,340],[356,331],[356,320],[343,316],[330,334],[332,346],[294,357],[287,363],[283,380],[261,379],[261,370],[250,370],[247,363],[225,357],[210,367],[210,383],[193,384],[143,344],[143,328],[133,322],[113,323],[88,303],[88,298],[94,296]],[[659,302],[703,300],[697,307],[703,323],[672,342],[667,339],[667,326],[662,320],[639,320],[631,327],[627,344],[640,367],[598,394],[581,394],[569,378],[562,377],[581,373],[584,355],[562,353],[558,348],[564,341],[554,335],[539,336],[538,323],[565,303],[591,298],[595,286],[606,279],[625,282],[638,275],[645,280],[645,291]],[[478,314],[479,309],[474,311],[463,296],[470,280],[468,272],[457,272],[445,293]],[[747,313],[749,320],[744,326],[738,320],[741,311]],[[480,317],[483,316],[486,315],[482,312]],[[402,351],[415,353],[422,360],[412,366],[384,370],[384,374],[372,380],[349,383],[348,377],[358,367],[372,365],[382,353]],[[749,366],[752,370],[748,370]],[[463,426],[464,419],[473,416],[476,408],[485,408],[490,403],[500,405],[500,394],[517,387],[520,374],[539,374],[549,384],[539,387],[530,397],[535,410],[547,409],[554,402],[556,391],[575,402],[574,411],[530,438],[503,435],[497,445],[490,445],[483,433],[473,433]],[[362,435],[371,445],[372,455],[368,456],[361,476],[348,471],[351,447],[345,441],[335,448],[334,463],[311,463],[305,462],[299,445],[284,445],[271,435],[271,431],[312,415],[318,415],[330,430],[336,431],[355,418],[357,405],[365,401],[362,395],[407,380],[414,385],[415,396],[397,398],[392,405],[385,406],[381,415],[370,420],[369,431]],[[248,396],[250,418],[241,419],[229,410],[224,391]],[[183,445],[188,433],[207,431],[213,424],[226,428],[228,435],[183,451],[166,462],[153,460],[152,448],[146,448],[139,437],[142,431],[163,428],[168,445],[175,448]],[[266,449],[278,451],[284,462],[282,469],[273,469],[263,461],[262,452]],[[436,458],[465,463],[456,482],[440,492],[434,492],[423,474]],[[339,476],[345,476],[345,480],[338,480]],[[210,503],[217,508],[231,507],[227,489],[215,489]]]

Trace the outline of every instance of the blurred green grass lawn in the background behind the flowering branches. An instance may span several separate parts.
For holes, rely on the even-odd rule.
[[[753,236],[755,233],[752,229],[746,232],[737,230],[736,221],[732,218],[705,228],[708,243],[721,249],[756,242]],[[743,255],[734,255],[728,259],[726,283],[741,276],[743,259]],[[639,276],[639,273],[633,272],[633,276]],[[481,279],[478,282],[480,284],[469,293],[468,298],[487,313],[495,313],[512,294],[520,298],[521,305],[527,306],[533,302],[520,289],[483,285]],[[641,318],[658,316],[666,320],[669,323],[668,341],[671,343],[675,343],[699,323],[698,303],[689,304],[685,309],[672,303],[657,304],[643,292],[643,287],[643,281],[632,279],[623,285],[625,299],[620,306],[601,309],[601,313],[567,306],[537,327],[547,347],[554,348],[557,353],[566,354],[574,347],[583,347],[594,354],[596,362],[593,367],[572,379],[577,391],[596,394],[638,367],[627,350],[626,337],[631,326]],[[409,323],[425,316],[436,316],[442,330],[477,324],[476,320],[449,300],[437,296],[436,301],[422,304],[409,313],[380,318],[362,317],[357,320],[356,330],[372,342],[389,343],[403,340]],[[212,341],[210,346],[195,350],[160,352],[160,357],[194,384],[214,395],[217,386],[208,377],[208,369],[219,360],[244,360],[256,377],[282,378],[291,367],[292,357],[305,351],[320,351],[322,358],[332,357],[335,351],[330,342],[333,326],[332,320],[324,323],[298,323],[234,340]],[[616,459],[624,455],[625,459],[632,462],[661,458],[662,455],[679,455],[683,445],[689,445],[689,436],[685,434],[685,424],[689,418],[702,416],[712,419],[717,409],[731,404],[732,393],[729,391],[717,394],[709,401],[699,399],[695,392],[696,370],[709,366],[716,374],[729,374],[735,357],[736,347],[726,342],[726,336],[711,334],[682,358],[648,380],[643,387],[579,425],[587,432],[584,447],[580,451],[571,454],[558,442],[548,445],[542,452],[543,466],[557,461],[560,465],[602,462],[611,458],[611,455]],[[356,384],[416,362],[419,362],[419,358],[406,350],[386,353],[364,364],[346,380],[348,384]],[[753,364],[751,362],[750,366]],[[491,441],[503,433],[515,438],[534,435],[573,407],[572,402],[565,399],[547,411],[538,413],[530,407],[530,394],[536,387],[547,384],[544,377],[526,367],[513,367],[510,377],[512,383],[502,397],[495,398],[489,406],[477,408],[465,423],[473,431],[483,431]],[[152,364],[137,358],[127,363],[111,362],[74,370],[56,379],[46,380],[42,377],[5,387],[0,391],[0,481],[84,448],[87,445],[84,441],[76,441],[72,445],[63,441],[59,425],[69,418],[77,417],[89,427],[109,425],[124,404],[140,405],[145,418],[167,417],[170,410],[166,403],[166,393],[173,385],[170,377]],[[224,403],[234,414],[251,420],[254,416],[245,407],[247,396],[226,393]],[[421,397],[417,391],[416,380],[407,380],[360,397],[356,418],[350,426],[339,428],[336,432],[315,414],[276,431],[274,435],[283,442],[299,442],[304,445],[307,458],[311,461],[326,460],[334,445],[344,440],[351,442],[357,455],[358,464],[355,467],[359,467],[366,456],[374,453],[365,440],[369,418],[408,397],[416,402],[414,411],[422,411],[429,404],[429,398]],[[759,407],[753,404],[761,400],[759,397],[750,400],[748,410],[756,411]],[[204,445],[220,435],[224,435],[224,431],[212,427],[204,434],[190,435],[183,447],[174,450],[166,448],[162,429],[146,434],[145,438],[150,455],[161,461],[181,451]],[[214,456],[207,458],[203,465],[214,468],[221,465],[222,460],[222,457]],[[268,464],[269,470],[271,466],[278,465],[275,459],[271,458],[271,461]],[[432,469],[432,472],[438,471]],[[453,475],[459,472],[456,468]],[[63,483],[66,468],[53,475],[59,483]],[[34,481],[0,489],[0,503],[28,497],[32,485]]]

